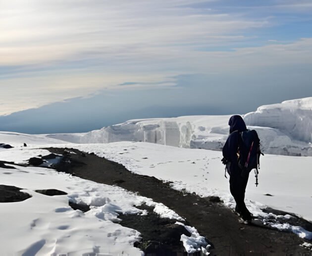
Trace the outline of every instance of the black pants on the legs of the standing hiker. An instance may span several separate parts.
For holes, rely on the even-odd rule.
[[[242,177],[241,170],[238,166],[233,169],[230,175],[230,191],[236,202],[236,209],[242,214],[243,218],[249,218],[251,213],[244,202],[249,173]]]

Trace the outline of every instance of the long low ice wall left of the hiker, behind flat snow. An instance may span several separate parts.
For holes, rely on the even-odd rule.
[[[141,141],[173,147],[216,149],[222,148],[229,116],[181,116],[129,120],[125,123],[104,127],[86,133],[79,143],[109,143]],[[217,126],[217,127],[215,127]]]

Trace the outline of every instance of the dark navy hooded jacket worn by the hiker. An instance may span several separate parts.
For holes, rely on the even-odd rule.
[[[229,120],[229,126],[230,126],[230,135],[223,146],[222,154],[225,159],[231,162],[231,169],[234,170],[239,168],[237,158],[237,151],[239,147],[239,136],[240,136],[239,133],[247,131],[247,127],[244,122],[244,119],[240,115],[231,116]]]

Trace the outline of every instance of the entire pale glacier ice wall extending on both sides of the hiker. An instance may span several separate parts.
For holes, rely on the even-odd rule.
[[[181,116],[129,120],[86,134],[51,134],[73,143],[151,142],[183,148],[221,150],[230,115]],[[259,133],[267,154],[312,156],[312,97],[260,106],[244,115],[249,129]]]

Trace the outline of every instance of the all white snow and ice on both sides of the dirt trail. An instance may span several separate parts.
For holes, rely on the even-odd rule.
[[[221,152],[217,151],[227,138],[229,117],[132,120],[86,134],[0,132],[0,143],[14,147],[0,149],[0,160],[24,163],[32,156],[48,154],[40,148],[76,148],[121,163],[134,173],[171,181],[177,190],[195,192],[203,197],[219,196],[225,205],[234,208],[235,202],[220,161]],[[252,213],[263,218],[279,217],[261,211],[269,206],[312,221],[312,157],[296,156],[312,155],[312,98],[261,106],[244,118],[250,128],[258,131],[263,150],[269,153],[260,159],[258,187],[254,185],[252,173],[250,175],[247,206]],[[24,143],[27,147],[23,147]],[[16,167],[12,170],[0,168],[0,184],[21,187],[33,197],[23,202],[0,204],[0,219],[5,219],[0,222],[1,255],[35,255],[36,252],[36,255],[69,252],[71,255],[140,255],[141,252],[133,247],[140,234],[115,223],[118,213],[145,214],[134,205],[146,202],[156,205],[160,215],[179,219],[165,205],[115,186],[97,184],[46,168]],[[34,191],[49,188],[68,195],[48,197]],[[73,210],[68,206],[68,200],[90,204],[92,209],[86,213]],[[312,239],[312,233],[300,227],[277,227]],[[195,231],[194,238],[201,241]],[[188,238],[181,239],[189,248]]]

